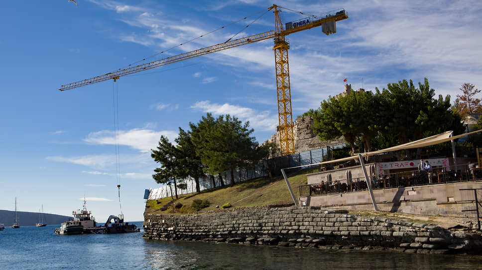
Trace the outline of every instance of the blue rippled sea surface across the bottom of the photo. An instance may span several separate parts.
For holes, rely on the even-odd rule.
[[[134,222],[142,227],[142,222]],[[0,231],[0,270],[482,269],[482,256],[146,241],[140,233],[56,235],[55,225]]]

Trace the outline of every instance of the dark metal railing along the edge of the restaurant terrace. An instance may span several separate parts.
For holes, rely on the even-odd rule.
[[[372,190],[394,189],[400,187],[415,187],[482,179],[482,168],[469,167],[469,164],[434,168],[429,172],[413,170],[399,173],[389,173],[370,177]],[[368,190],[364,177],[323,181],[321,183],[299,186],[300,197],[313,195],[334,195]]]

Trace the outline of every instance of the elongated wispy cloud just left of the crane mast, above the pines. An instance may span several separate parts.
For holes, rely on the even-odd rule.
[[[269,111],[258,112],[251,108],[241,107],[232,104],[211,103],[208,100],[196,102],[191,106],[192,109],[201,110],[205,113],[214,115],[231,115],[243,122],[249,121],[250,127],[261,131],[272,131],[278,122],[277,115],[272,115]]]

